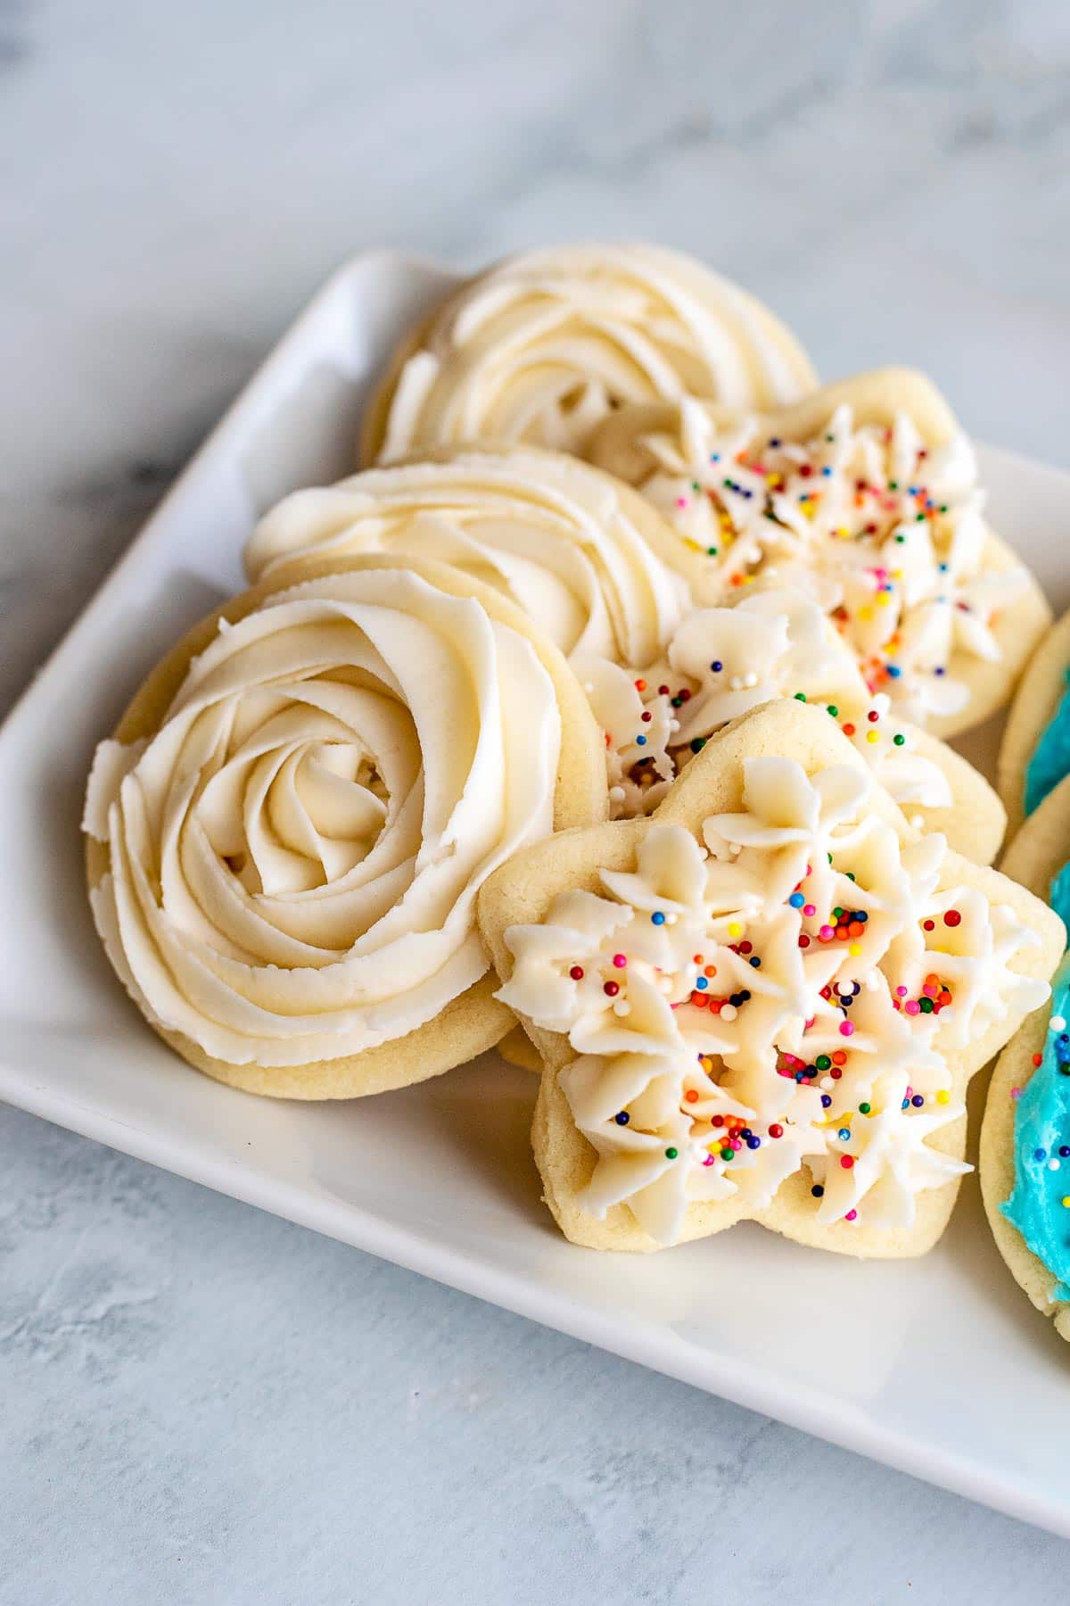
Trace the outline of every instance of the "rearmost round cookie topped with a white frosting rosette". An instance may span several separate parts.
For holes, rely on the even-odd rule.
[[[462,284],[401,347],[369,406],[363,461],[473,440],[579,451],[624,402],[770,408],[815,382],[794,336],[690,257],[529,251]]]

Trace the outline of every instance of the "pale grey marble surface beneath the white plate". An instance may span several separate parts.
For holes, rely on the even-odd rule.
[[[659,238],[1070,464],[1068,69],[1059,0],[0,0],[0,705],[369,244]],[[11,1111],[0,1412],[3,1606],[1065,1600],[1059,1540]]]

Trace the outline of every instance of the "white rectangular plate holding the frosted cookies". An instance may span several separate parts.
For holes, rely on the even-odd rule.
[[[448,283],[388,254],[338,273],[0,731],[0,1095],[1070,1535],[1070,1354],[1006,1272],[974,1179],[922,1261],[852,1262],[757,1227],[597,1256],[565,1243],[539,1203],[525,1073],[488,1055],[380,1099],[250,1099],[157,1042],[103,959],[79,838],[95,742],[170,641],[241,588],[258,514],[353,467],[369,376]],[[995,450],[983,474],[996,528],[1065,605],[1070,475]],[[990,766],[991,740],[974,737],[971,756]]]

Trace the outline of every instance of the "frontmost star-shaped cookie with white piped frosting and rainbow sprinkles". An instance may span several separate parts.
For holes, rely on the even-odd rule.
[[[480,928],[544,1060],[533,1143],[566,1237],[655,1249],[751,1217],[865,1256],[940,1237],[966,1084],[1064,935],[789,702],[712,737],[653,819],[521,850]]]

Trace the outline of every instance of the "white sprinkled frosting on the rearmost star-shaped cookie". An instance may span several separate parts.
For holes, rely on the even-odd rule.
[[[953,660],[1001,657],[993,617],[1028,575],[988,562],[966,437],[927,448],[906,414],[887,429],[857,426],[841,405],[813,438],[786,440],[756,418],[719,424],[685,400],[674,427],[642,445],[655,466],[640,488],[725,589],[756,577],[809,588],[871,692],[903,718],[958,713],[969,687]]]

